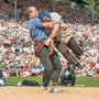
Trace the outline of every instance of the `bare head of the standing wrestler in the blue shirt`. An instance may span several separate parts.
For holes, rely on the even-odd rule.
[[[26,8],[26,14],[29,18],[38,18],[38,11],[32,6]]]

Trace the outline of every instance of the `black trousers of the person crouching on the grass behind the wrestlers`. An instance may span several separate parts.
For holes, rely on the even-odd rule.
[[[68,85],[68,84],[72,84],[72,86],[75,85],[75,81],[76,81],[76,75],[75,74],[72,74],[72,75],[62,75],[61,76],[61,80],[62,80],[62,84],[63,85]]]

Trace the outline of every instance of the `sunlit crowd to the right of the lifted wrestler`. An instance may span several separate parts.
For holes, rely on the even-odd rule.
[[[81,64],[85,70],[81,76],[96,76],[99,73],[99,25],[69,24],[76,41],[84,48]]]

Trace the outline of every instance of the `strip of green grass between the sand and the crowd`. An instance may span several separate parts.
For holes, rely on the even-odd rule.
[[[19,81],[23,81],[24,79],[35,80],[38,84],[42,84],[42,77],[9,77],[7,82],[9,86],[16,86]],[[50,86],[52,82],[50,82]],[[99,87],[99,77],[77,77],[76,85],[85,85],[86,87]],[[62,86],[63,87],[63,86]]]

